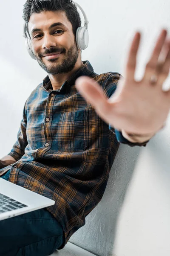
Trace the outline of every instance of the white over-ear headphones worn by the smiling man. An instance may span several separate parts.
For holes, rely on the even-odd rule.
[[[72,2],[74,2],[72,0]],[[76,32],[76,42],[77,42],[77,47],[79,50],[85,50],[88,47],[88,42],[89,42],[89,35],[88,35],[88,19],[87,16],[85,15],[84,10],[82,9],[81,6],[79,6],[78,3],[74,2],[76,6],[79,7],[79,9],[82,11],[82,14],[85,18],[85,25],[82,27],[79,27],[77,29]],[[31,47],[31,40],[29,38],[29,36],[27,35],[27,31],[26,31],[26,23],[24,22],[24,26],[23,26],[23,37],[26,38],[26,49],[29,53],[29,55],[31,56],[31,58],[33,58],[34,60],[36,60],[35,56],[34,56],[34,52],[33,49]]]

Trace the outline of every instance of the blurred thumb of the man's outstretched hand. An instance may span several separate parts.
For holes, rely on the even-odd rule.
[[[96,108],[97,113],[105,115],[109,103],[99,84],[87,76],[81,76],[76,80],[75,85],[82,96]]]

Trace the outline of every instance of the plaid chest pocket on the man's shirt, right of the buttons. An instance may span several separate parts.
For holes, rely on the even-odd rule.
[[[88,111],[61,114],[58,128],[59,151],[84,151],[88,147]]]

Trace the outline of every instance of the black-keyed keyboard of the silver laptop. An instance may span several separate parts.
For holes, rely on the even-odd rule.
[[[28,205],[25,205],[0,193],[0,213],[9,212],[23,207],[28,207]]]

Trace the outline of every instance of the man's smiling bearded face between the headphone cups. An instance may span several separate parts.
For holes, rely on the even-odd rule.
[[[47,11],[32,14],[28,31],[34,55],[48,74],[68,73],[73,70],[79,51],[72,24],[65,12]],[[45,56],[51,53],[57,55]]]

